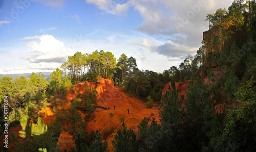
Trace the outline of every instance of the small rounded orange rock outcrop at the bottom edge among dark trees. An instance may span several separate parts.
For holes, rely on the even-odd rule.
[[[75,139],[68,132],[63,131],[59,135],[59,140],[57,144],[61,151],[64,151],[65,149],[67,149],[67,151],[70,151],[71,147],[76,147]]]

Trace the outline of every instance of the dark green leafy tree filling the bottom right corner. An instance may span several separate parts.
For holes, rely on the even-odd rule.
[[[247,81],[236,93],[240,109],[229,109],[228,123],[216,151],[255,151],[256,150],[256,86],[255,81]]]

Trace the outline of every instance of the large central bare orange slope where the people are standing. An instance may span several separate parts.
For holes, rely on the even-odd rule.
[[[96,109],[92,114],[92,120],[88,122],[87,132],[92,130],[99,130],[101,135],[105,135],[112,127],[115,128],[112,135],[108,136],[108,149],[112,151],[112,140],[118,129],[122,128],[121,118],[124,119],[124,123],[127,129],[133,129],[138,131],[137,125],[141,120],[146,118],[156,118],[159,121],[158,107],[151,109],[145,108],[144,103],[135,97],[127,96],[121,91],[120,88],[114,87],[111,80],[101,79],[96,87],[98,92],[97,105],[102,107],[110,107],[110,110]],[[114,110],[114,105],[116,110]],[[130,112],[128,114],[127,108]],[[111,117],[111,113],[114,115]],[[153,117],[152,117],[153,116]]]

